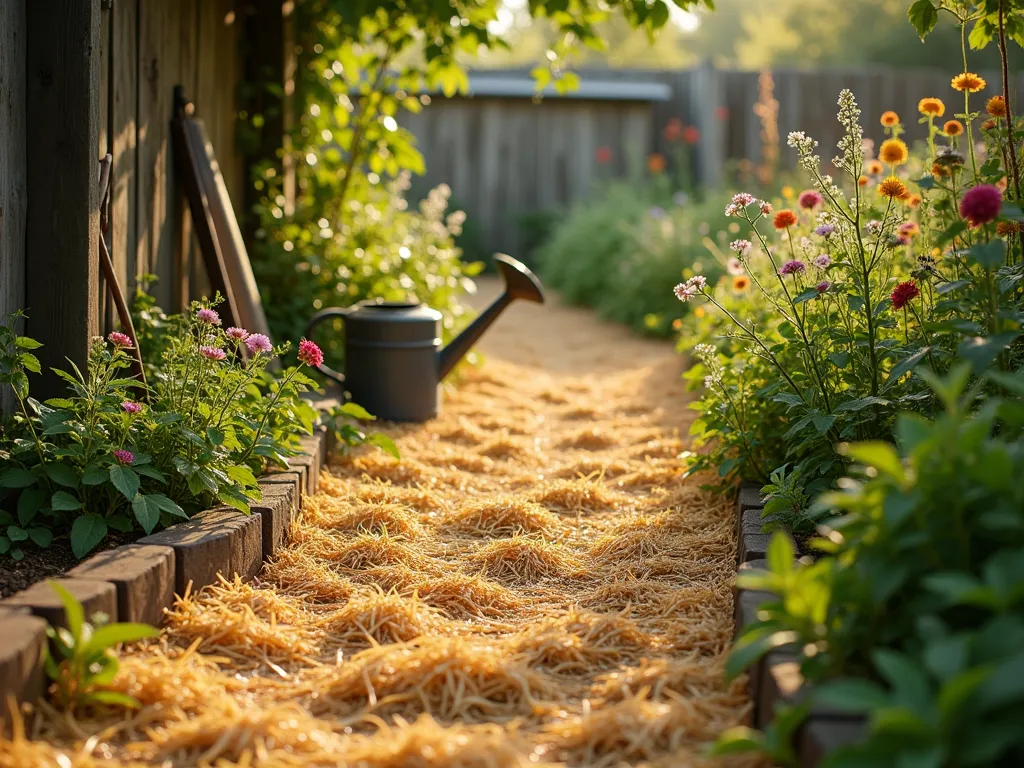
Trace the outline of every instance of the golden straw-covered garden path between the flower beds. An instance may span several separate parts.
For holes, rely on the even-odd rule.
[[[749,711],[723,660],[728,504],[681,476],[679,358],[516,307],[402,461],[332,465],[255,584],[126,652],[130,717],[44,711],[0,766],[697,766]],[[739,760],[733,765],[751,765]]]

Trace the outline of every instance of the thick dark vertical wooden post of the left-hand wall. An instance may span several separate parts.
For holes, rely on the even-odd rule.
[[[43,370],[85,367],[99,327],[100,0],[29,3],[26,297]],[[40,399],[63,391],[44,376]]]

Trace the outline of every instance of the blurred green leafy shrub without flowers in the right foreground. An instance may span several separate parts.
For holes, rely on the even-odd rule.
[[[827,556],[795,564],[777,535],[769,570],[740,574],[739,586],[778,599],[742,633],[728,670],[784,645],[816,700],[866,714],[866,741],[837,753],[835,765],[1017,765],[1024,378],[992,374],[989,384],[1012,397],[980,399],[983,382],[964,393],[967,364],[946,381],[922,376],[944,412],[934,423],[901,415],[898,449],[849,446],[856,476],[817,502],[843,515],[818,542]],[[752,735],[733,732],[724,743],[757,743]]]

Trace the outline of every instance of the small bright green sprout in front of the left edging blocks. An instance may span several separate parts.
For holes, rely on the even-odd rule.
[[[56,706],[71,714],[98,707],[137,708],[135,698],[110,687],[119,666],[114,648],[156,637],[159,630],[145,624],[106,624],[101,614],[93,616],[95,625],[90,624],[82,604],[68,590],[55,582],[50,586],[60,598],[68,624],[46,630],[50,646],[43,663],[53,681]]]

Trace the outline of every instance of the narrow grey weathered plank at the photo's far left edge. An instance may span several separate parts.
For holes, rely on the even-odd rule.
[[[25,305],[26,37],[25,3],[0,3],[0,317]],[[10,413],[3,389],[0,413]]]

